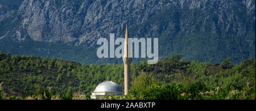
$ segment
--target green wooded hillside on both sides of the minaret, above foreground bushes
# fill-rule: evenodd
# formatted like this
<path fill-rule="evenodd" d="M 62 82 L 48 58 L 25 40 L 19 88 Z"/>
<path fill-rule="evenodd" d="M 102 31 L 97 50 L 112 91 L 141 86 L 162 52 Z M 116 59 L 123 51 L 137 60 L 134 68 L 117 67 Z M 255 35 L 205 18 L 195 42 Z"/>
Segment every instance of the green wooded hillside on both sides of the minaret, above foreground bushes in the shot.
<path fill-rule="evenodd" d="M 161 84 L 193 86 L 193 83 L 200 81 L 208 87 L 221 88 L 238 84 L 238 88 L 254 87 L 252 91 L 255 97 L 255 59 L 230 65 L 230 58 L 220 64 L 184 61 L 180 58 L 180 54 L 175 54 L 170 58 L 163 58 L 156 65 L 148 65 L 147 61 L 131 64 L 132 81 L 138 83 L 141 79 L 137 78 L 146 74 L 152 75 Z M 31 95 L 38 89 L 47 87 L 60 95 L 75 92 L 90 95 L 97 84 L 106 80 L 117 83 L 123 89 L 123 65 L 84 65 L 35 55 L 11 56 L 10 53 L 0 53 L 0 83 L 5 96 Z M 132 87 L 135 86 L 136 82 Z"/>

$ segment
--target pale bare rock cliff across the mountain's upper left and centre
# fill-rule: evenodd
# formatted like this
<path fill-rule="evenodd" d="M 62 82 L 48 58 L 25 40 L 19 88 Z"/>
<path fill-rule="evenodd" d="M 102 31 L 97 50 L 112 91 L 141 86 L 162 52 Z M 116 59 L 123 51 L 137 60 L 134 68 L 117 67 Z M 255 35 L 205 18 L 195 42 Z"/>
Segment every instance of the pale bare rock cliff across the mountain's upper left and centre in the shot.
<path fill-rule="evenodd" d="M 36 41 L 83 42 L 93 44 L 99 37 L 117 36 L 125 24 L 141 24 L 177 3 L 155 1 L 33 1 L 19 7 L 22 27 Z"/>

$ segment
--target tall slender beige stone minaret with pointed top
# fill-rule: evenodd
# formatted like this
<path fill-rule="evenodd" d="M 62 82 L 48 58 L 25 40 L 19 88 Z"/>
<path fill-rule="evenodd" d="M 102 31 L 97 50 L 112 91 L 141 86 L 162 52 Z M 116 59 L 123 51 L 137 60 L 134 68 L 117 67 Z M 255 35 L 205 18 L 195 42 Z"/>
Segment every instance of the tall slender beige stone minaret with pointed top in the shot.
<path fill-rule="evenodd" d="M 128 41 L 128 28 L 126 24 L 126 32 L 125 32 L 125 54 L 123 55 L 123 64 L 125 66 L 125 95 L 127 95 L 128 90 L 130 89 L 130 64 L 131 58 L 129 58 L 129 41 Z"/>

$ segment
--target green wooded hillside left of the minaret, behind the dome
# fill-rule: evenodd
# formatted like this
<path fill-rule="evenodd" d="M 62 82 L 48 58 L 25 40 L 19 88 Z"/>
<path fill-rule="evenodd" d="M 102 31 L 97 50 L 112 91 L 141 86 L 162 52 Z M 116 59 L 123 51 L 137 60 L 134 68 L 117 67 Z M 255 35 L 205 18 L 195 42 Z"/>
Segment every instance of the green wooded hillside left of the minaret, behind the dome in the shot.
<path fill-rule="evenodd" d="M 122 86 L 122 65 L 84 65 L 35 55 L 0 56 L 0 83 L 6 92 L 13 95 L 29 95 L 30 91 L 43 87 L 65 94 L 90 93 L 98 83 L 112 80 Z"/>

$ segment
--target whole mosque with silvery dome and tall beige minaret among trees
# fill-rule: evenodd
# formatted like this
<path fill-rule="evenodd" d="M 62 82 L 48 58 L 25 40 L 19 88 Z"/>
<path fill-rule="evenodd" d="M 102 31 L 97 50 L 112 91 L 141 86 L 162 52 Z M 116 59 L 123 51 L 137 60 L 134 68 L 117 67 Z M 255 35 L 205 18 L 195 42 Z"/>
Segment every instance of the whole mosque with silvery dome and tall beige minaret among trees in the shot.
<path fill-rule="evenodd" d="M 129 34 L 128 28 L 126 24 L 126 32 L 125 32 L 125 45 L 124 45 L 124 55 L 123 55 L 123 64 L 125 67 L 125 93 L 123 93 L 122 89 L 115 84 L 114 82 L 106 81 L 98 84 L 95 90 L 92 92 L 92 99 L 103 99 L 105 95 L 127 95 L 127 92 L 130 89 L 130 64 L 131 58 L 129 58 Z"/>

